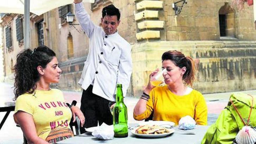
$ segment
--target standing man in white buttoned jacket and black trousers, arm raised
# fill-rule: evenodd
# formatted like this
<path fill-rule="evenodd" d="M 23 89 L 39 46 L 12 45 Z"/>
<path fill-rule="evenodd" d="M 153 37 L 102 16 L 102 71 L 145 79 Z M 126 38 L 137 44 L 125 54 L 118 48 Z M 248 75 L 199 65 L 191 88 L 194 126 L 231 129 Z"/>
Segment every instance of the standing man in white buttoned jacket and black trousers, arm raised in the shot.
<path fill-rule="evenodd" d="M 79 84 L 83 88 L 81 111 L 85 128 L 113 124 L 109 103 L 115 102 L 116 84 L 125 97 L 132 72 L 131 46 L 117 31 L 120 12 L 114 5 L 102 9 L 102 27 L 90 19 L 82 0 L 74 0 L 75 15 L 90 39 L 90 49 Z M 112 105 L 113 103 L 111 103 Z"/>

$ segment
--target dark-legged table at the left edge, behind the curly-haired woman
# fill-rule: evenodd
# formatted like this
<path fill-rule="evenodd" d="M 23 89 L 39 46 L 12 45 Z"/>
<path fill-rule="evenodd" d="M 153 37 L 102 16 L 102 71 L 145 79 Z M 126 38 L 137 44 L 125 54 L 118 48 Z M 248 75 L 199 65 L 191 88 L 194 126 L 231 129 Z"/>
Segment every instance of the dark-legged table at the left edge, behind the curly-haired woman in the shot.
<path fill-rule="evenodd" d="M 15 109 L 15 102 L 4 102 L 4 103 L 0 103 L 0 112 L 5 112 L 6 114 L 3 117 L 3 120 L 1 121 L 0 124 L 0 130 L 4 124 L 4 122 L 6 121 L 8 115 L 10 114 L 11 111 L 14 111 Z"/>

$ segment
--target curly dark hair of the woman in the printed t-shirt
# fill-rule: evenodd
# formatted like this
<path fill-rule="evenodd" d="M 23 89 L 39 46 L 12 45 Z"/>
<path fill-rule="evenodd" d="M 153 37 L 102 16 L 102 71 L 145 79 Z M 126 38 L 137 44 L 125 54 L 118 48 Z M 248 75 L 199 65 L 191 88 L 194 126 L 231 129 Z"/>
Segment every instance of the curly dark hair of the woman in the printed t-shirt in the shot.
<path fill-rule="evenodd" d="M 55 56 L 54 51 L 44 45 L 35 48 L 34 51 L 24 49 L 17 55 L 17 62 L 13 67 L 15 76 L 14 100 L 24 93 L 34 93 L 36 82 L 40 78 L 37 67 L 45 68 Z"/>

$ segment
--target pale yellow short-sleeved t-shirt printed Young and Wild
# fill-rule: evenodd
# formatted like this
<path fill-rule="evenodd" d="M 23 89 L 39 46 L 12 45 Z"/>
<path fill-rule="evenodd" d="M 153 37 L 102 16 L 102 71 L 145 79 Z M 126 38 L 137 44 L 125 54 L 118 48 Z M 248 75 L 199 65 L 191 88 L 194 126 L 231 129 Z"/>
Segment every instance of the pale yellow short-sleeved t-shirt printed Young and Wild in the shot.
<path fill-rule="evenodd" d="M 15 113 L 17 111 L 33 116 L 37 135 L 44 140 L 51 129 L 70 128 L 72 113 L 64 101 L 63 93 L 58 89 L 35 90 L 34 94 L 20 95 L 15 105 Z"/>

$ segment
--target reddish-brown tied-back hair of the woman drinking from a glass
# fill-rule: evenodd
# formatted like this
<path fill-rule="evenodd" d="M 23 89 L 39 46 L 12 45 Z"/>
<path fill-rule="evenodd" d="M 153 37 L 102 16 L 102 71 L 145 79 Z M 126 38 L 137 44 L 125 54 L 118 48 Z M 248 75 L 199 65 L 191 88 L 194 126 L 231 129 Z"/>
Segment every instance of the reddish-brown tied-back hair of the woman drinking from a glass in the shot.
<path fill-rule="evenodd" d="M 180 51 L 173 50 L 163 53 L 162 62 L 164 60 L 173 61 L 173 63 L 179 68 L 186 67 L 186 72 L 184 73 L 182 79 L 186 85 L 190 85 L 192 87 L 195 80 L 195 63 L 191 57 L 185 56 Z"/>

